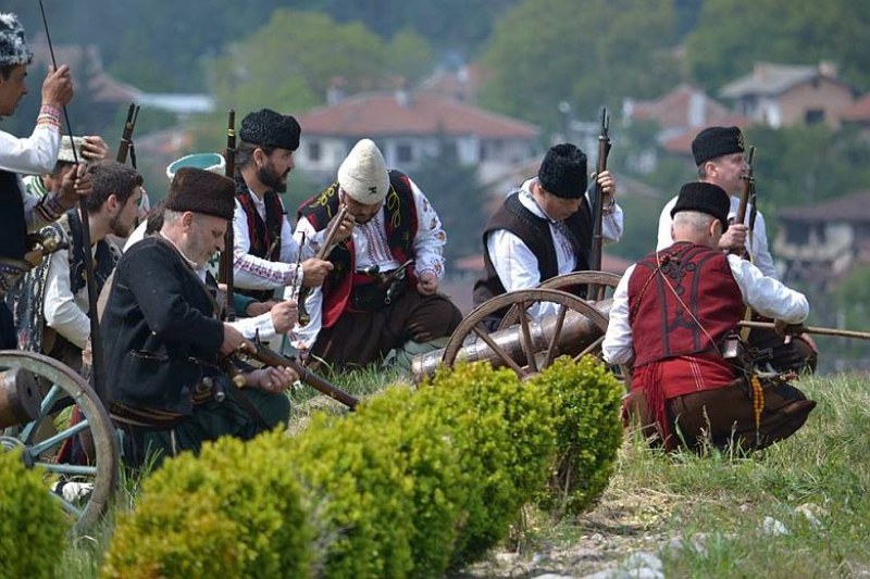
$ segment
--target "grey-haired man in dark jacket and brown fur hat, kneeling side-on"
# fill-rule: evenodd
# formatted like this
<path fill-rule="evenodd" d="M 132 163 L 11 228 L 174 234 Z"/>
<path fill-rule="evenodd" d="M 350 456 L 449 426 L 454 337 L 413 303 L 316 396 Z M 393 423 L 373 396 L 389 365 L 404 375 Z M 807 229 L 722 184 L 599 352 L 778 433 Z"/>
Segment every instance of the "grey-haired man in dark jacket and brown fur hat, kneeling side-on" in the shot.
<path fill-rule="evenodd" d="M 220 366 L 246 343 L 221 323 L 207 269 L 223 250 L 234 189 L 222 175 L 178 169 L 160 232 L 133 244 L 115 269 L 102 318 L 105 375 L 132 465 L 198 452 L 222 436 L 249 439 L 289 417 L 284 392 L 299 378 L 294 370 L 249 372 L 239 390 Z"/>

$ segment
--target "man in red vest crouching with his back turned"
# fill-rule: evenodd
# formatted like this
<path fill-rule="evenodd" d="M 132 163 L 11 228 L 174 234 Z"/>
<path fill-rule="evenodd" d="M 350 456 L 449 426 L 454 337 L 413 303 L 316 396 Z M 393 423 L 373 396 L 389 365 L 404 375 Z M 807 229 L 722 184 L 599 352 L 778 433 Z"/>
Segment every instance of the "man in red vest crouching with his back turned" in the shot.
<path fill-rule="evenodd" d="M 774 318 L 784 333 L 807 317 L 809 304 L 717 249 L 729 206 L 717 185 L 684 185 L 671 211 L 673 244 L 629 267 L 613 294 L 605 360 L 633 363 L 626 414 L 668 450 L 761 449 L 793 435 L 816 406 L 793 386 L 735 364 L 731 350 L 745 305 Z"/>

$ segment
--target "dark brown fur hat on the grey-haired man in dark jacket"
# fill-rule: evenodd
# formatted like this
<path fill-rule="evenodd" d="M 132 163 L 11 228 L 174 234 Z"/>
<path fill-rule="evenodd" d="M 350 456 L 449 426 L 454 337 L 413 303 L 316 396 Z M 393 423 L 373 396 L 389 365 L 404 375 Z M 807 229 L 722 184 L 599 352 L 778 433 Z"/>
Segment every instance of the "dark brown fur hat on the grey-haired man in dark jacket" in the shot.
<path fill-rule="evenodd" d="M 170 211 L 192 211 L 232 221 L 236 209 L 235 192 L 236 185 L 229 177 L 201 168 L 182 167 L 172 178 L 164 206 Z"/>

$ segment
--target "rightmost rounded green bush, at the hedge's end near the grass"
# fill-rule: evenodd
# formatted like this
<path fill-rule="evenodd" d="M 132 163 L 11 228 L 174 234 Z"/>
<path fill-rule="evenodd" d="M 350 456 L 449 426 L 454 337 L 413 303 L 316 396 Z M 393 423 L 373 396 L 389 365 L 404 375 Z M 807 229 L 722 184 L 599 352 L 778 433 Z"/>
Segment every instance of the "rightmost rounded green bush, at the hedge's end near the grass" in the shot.
<path fill-rule="evenodd" d="M 563 356 L 530 381 L 547 391 L 556 417 L 556 460 L 538 504 L 556 516 L 579 514 L 601 495 L 613 474 L 624 388 L 593 356 L 579 363 Z"/>

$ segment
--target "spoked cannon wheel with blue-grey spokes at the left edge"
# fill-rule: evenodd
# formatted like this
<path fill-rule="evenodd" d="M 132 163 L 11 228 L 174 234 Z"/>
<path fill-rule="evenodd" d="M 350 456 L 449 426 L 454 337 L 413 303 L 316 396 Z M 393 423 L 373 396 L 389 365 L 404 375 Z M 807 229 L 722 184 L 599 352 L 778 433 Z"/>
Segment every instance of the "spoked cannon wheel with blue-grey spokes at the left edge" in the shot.
<path fill-rule="evenodd" d="M 53 358 L 0 351 L 0 368 L 29 370 L 52 385 L 34 408 L 36 418 L 0 437 L 0 451 L 20 448 L 28 466 L 45 469 L 47 491 L 75 519 L 78 534 L 105 512 L 117 482 L 117 439 L 109 414 L 94 389 Z M 72 445 L 80 452 L 69 452 Z"/>

